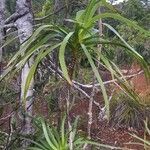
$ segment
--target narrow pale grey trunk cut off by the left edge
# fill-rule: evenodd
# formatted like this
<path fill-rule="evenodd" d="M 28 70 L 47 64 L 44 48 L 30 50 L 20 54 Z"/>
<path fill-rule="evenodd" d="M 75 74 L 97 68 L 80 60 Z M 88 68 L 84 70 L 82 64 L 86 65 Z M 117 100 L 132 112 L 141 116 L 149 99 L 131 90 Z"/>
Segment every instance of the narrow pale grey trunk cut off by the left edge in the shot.
<path fill-rule="evenodd" d="M 3 55 L 3 38 L 4 38 L 4 20 L 5 19 L 5 0 L 0 0 L 0 75 L 2 73 L 2 55 Z"/>

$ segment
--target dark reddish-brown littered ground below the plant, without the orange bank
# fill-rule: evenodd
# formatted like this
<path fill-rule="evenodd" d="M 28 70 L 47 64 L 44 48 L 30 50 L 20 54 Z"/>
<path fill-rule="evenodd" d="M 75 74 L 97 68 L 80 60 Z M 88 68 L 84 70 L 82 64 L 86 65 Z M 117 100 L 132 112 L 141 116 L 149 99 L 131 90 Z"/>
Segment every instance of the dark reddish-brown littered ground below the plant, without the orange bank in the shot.
<path fill-rule="evenodd" d="M 41 100 L 40 100 L 41 101 Z M 76 118 L 80 116 L 78 127 L 79 132 L 83 135 L 87 135 L 87 123 L 88 123 L 88 101 L 83 99 L 80 102 L 76 103 L 70 112 L 70 116 L 72 118 Z M 43 109 L 44 108 L 44 109 Z M 38 106 L 36 113 L 44 114 L 48 118 L 47 113 L 47 104 L 43 103 L 43 105 Z M 54 113 L 55 114 L 55 113 Z M 57 118 L 58 114 L 54 115 L 53 119 Z M 56 120 L 55 120 L 56 121 Z M 136 130 L 132 128 L 116 128 L 112 127 L 107 123 L 106 120 L 99 119 L 99 110 L 97 106 L 93 105 L 93 121 L 91 128 L 91 137 L 94 141 L 101 142 L 103 144 L 115 146 L 115 147 L 123 147 L 124 150 L 128 148 L 128 150 L 144 150 L 143 146 L 129 144 L 131 142 L 139 142 L 135 138 L 133 138 L 130 134 L 136 134 L 137 136 L 144 138 L 143 130 Z M 130 133 L 130 134 L 129 134 Z M 148 137 L 149 138 L 149 137 Z M 107 149 L 105 149 L 107 150 Z M 148 150 L 148 149 L 147 149 Z"/>

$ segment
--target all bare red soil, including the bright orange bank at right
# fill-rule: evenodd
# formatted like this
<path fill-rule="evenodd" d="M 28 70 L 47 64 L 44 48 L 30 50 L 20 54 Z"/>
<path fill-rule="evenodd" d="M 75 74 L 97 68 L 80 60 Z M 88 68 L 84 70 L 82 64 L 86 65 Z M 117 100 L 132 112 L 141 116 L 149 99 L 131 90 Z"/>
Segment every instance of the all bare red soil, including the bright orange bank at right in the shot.
<path fill-rule="evenodd" d="M 140 70 L 140 67 L 134 64 L 128 73 L 129 74 L 136 73 L 139 70 Z M 144 74 L 140 74 L 132 78 L 130 82 L 132 83 L 132 85 L 134 86 L 134 89 L 139 93 L 140 96 L 145 96 L 147 93 L 150 93 L 150 84 L 147 84 Z M 99 102 L 101 105 L 103 105 L 101 94 L 95 95 L 94 99 L 97 102 Z M 87 99 L 79 100 L 78 102 L 75 103 L 70 113 L 72 118 L 75 118 L 77 115 L 81 116 L 81 119 L 79 122 L 79 128 L 84 133 L 87 132 L 88 104 L 89 103 Z M 43 100 L 43 97 L 42 96 L 39 97 L 34 107 L 35 114 L 43 115 L 46 118 L 49 118 L 47 106 L 48 104 Z M 1 118 L 7 116 L 10 113 L 10 111 L 11 111 L 11 108 L 6 107 Z M 56 119 L 57 117 L 58 117 L 58 114 L 55 114 L 53 119 Z M 0 129 L 4 129 L 4 130 L 8 129 L 9 128 L 8 121 L 9 119 L 1 120 Z M 4 124 L 2 125 L 2 123 Z M 139 130 L 130 131 L 129 129 L 125 129 L 125 128 L 114 129 L 110 127 L 109 124 L 105 120 L 99 120 L 99 109 L 96 105 L 93 105 L 93 123 L 92 123 L 92 130 L 91 130 L 92 139 L 96 141 L 101 141 L 104 144 L 109 144 L 113 146 L 126 147 L 132 150 L 144 150 L 142 146 L 139 146 L 139 145 L 129 146 L 126 144 L 129 142 L 136 141 L 131 135 L 129 135 L 129 132 L 136 133 L 136 135 L 143 138 L 143 131 L 139 131 Z"/>

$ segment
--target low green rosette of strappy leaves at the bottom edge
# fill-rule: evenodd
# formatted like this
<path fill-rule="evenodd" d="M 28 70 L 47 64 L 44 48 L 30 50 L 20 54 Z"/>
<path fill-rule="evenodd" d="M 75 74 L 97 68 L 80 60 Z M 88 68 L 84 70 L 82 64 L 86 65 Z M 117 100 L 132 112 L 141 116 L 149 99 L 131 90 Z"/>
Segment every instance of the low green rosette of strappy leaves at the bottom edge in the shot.
<path fill-rule="evenodd" d="M 36 119 L 37 120 L 37 119 Z M 84 144 L 93 145 L 94 149 L 99 148 L 115 148 L 121 149 L 120 147 L 113 147 L 105 144 L 100 144 L 98 142 L 94 142 L 92 140 L 86 140 L 85 138 L 79 136 L 77 134 L 77 121 L 78 117 L 76 118 L 75 122 L 72 124 L 71 132 L 66 128 L 66 117 L 63 117 L 62 123 L 59 129 L 56 127 L 49 125 L 43 121 L 43 119 L 38 119 L 36 122 L 40 129 L 42 129 L 42 134 L 36 138 L 36 140 L 27 139 L 32 144 L 28 147 L 28 150 L 69 150 L 69 134 L 72 132 L 72 141 L 73 141 L 73 149 L 79 150 L 82 149 Z"/>

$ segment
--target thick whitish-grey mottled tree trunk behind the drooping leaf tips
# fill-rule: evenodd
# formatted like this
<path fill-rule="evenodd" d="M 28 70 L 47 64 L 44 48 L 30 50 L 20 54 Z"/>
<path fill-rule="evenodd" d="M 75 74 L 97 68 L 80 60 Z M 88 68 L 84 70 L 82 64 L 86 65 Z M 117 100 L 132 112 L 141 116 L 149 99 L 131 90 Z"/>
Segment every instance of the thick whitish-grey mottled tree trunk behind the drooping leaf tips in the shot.
<path fill-rule="evenodd" d="M 31 0 L 17 0 L 16 2 L 16 12 L 20 14 L 22 17 L 18 18 L 15 21 L 16 27 L 18 29 L 18 36 L 20 43 L 22 44 L 26 41 L 33 32 L 33 14 L 31 9 Z M 26 79 L 30 70 L 30 66 L 33 63 L 33 57 L 24 65 L 21 73 L 21 104 L 23 104 L 24 99 L 24 87 L 26 83 Z M 30 83 L 29 90 L 26 95 L 26 103 L 25 106 L 25 117 L 23 124 L 23 134 L 31 134 L 32 133 L 32 119 L 29 116 L 32 116 L 32 102 L 33 102 L 33 86 L 34 81 Z M 26 146 L 26 144 L 24 144 Z"/>

